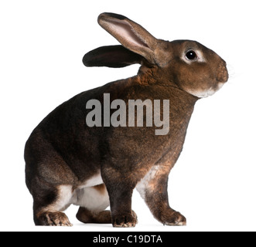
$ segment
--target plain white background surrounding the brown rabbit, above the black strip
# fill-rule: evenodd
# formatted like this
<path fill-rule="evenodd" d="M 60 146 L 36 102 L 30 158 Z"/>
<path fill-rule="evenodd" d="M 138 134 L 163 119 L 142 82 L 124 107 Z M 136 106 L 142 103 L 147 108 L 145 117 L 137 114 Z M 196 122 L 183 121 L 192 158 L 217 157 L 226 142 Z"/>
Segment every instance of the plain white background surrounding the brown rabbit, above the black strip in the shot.
<path fill-rule="evenodd" d="M 254 1 L 0 2 L 0 229 L 2 231 L 254 231 L 255 12 Z M 172 208 L 186 227 L 156 222 L 137 191 L 136 228 L 83 225 L 77 207 L 67 210 L 73 228 L 35 227 L 25 184 L 23 150 L 29 134 L 63 101 L 96 86 L 133 76 L 125 69 L 86 68 L 84 53 L 118 44 L 97 24 L 116 12 L 160 39 L 194 39 L 227 61 L 230 80 L 196 103 L 183 153 L 169 176 Z"/>

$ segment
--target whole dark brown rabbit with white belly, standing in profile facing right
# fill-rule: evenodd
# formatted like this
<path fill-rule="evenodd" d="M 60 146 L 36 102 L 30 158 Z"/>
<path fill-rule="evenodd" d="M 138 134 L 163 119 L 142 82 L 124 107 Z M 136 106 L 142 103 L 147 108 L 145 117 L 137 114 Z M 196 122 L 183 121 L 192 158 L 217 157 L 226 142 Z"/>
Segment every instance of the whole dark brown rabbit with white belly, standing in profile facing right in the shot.
<path fill-rule="evenodd" d="M 73 204 L 80 206 L 80 222 L 135 227 L 135 188 L 163 225 L 186 225 L 186 218 L 169 206 L 169 172 L 183 150 L 196 101 L 227 82 L 226 63 L 199 42 L 156 39 L 123 15 L 102 13 L 98 23 L 121 45 L 88 52 L 84 65 L 141 66 L 136 76 L 73 96 L 32 131 L 24 157 L 35 225 L 71 226 L 63 211 Z M 102 104 L 107 96 L 126 106 L 129 100 L 169 100 L 168 133 L 155 134 L 153 124 L 129 127 L 128 118 L 124 126 L 104 126 L 103 111 L 99 124 L 89 127 L 87 116 L 94 108 L 87 104 Z M 164 117 L 162 110 L 155 114 Z"/>

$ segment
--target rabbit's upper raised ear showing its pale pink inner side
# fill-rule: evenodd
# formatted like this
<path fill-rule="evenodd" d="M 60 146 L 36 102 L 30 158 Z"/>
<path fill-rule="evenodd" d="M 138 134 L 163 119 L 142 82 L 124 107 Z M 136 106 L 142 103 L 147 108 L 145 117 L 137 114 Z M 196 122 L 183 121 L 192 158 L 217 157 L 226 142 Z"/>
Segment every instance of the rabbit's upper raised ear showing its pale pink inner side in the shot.
<path fill-rule="evenodd" d="M 99 15 L 98 23 L 111 36 L 118 39 L 125 48 L 143 56 L 151 64 L 157 63 L 158 59 L 155 56 L 155 49 L 159 40 L 155 39 L 141 25 L 138 25 L 123 15 L 113 13 Z"/>

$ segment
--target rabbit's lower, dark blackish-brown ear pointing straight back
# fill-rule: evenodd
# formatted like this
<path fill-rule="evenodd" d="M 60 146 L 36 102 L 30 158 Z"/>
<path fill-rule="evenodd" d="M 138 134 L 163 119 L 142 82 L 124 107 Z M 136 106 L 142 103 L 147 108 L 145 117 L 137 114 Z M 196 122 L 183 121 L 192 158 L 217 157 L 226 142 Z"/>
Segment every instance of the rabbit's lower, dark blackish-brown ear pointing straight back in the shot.
<path fill-rule="evenodd" d="M 103 46 L 84 55 L 83 63 L 87 67 L 107 66 L 121 68 L 135 63 L 142 63 L 143 57 L 131 52 L 124 46 Z"/>

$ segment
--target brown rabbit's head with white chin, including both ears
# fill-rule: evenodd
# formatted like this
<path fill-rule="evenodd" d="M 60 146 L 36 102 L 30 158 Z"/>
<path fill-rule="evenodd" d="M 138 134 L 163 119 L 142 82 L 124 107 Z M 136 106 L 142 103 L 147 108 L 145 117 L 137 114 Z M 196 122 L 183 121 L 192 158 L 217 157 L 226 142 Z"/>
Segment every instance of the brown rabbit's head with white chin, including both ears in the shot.
<path fill-rule="evenodd" d="M 141 25 L 123 15 L 103 13 L 98 22 L 122 46 L 88 52 L 85 66 L 124 67 L 134 63 L 152 70 L 152 77 L 199 98 L 217 92 L 227 82 L 226 63 L 215 52 L 191 40 L 155 39 Z"/>

